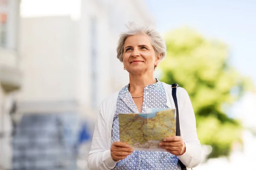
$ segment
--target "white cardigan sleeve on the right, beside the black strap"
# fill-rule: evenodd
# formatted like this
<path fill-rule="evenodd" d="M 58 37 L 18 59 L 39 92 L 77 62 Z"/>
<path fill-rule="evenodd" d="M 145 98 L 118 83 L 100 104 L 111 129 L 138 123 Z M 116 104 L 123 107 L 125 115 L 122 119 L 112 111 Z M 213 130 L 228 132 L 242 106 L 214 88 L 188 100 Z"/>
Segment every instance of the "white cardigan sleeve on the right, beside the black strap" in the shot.
<path fill-rule="evenodd" d="M 188 168 L 196 167 L 201 162 L 201 144 L 196 132 L 195 113 L 189 94 L 184 88 L 177 88 L 177 102 L 180 116 L 180 133 L 186 145 L 186 151 L 178 156 Z"/>

